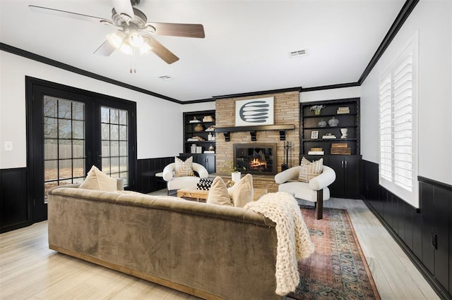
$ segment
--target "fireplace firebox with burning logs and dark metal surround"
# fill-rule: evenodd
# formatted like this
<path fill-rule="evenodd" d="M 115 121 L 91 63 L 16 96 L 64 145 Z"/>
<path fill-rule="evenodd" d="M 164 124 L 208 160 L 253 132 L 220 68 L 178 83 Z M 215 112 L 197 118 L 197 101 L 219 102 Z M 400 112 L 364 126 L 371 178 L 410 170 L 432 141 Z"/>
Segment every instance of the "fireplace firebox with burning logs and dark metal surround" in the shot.
<path fill-rule="evenodd" d="M 246 168 L 244 173 L 275 175 L 276 157 L 276 143 L 234 144 L 234 165 Z"/>

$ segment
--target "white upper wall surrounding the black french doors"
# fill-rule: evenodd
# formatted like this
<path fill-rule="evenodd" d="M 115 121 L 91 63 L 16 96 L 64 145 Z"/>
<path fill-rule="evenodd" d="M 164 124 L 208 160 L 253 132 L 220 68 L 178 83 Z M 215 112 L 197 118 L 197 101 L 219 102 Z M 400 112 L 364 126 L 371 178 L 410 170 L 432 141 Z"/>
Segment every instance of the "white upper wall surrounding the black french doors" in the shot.
<path fill-rule="evenodd" d="M 181 105 L 0 51 L 0 168 L 26 166 L 25 75 L 136 102 L 138 158 L 182 151 Z M 4 142 L 13 143 L 5 151 Z"/>

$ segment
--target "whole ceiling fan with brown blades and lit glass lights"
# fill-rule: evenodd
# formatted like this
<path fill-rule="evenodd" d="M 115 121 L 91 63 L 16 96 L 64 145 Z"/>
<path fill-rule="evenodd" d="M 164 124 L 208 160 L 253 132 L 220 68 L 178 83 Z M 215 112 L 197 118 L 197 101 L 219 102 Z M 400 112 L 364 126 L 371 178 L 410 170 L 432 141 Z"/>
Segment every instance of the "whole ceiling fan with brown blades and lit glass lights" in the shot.
<path fill-rule="evenodd" d="M 107 40 L 94 52 L 94 54 L 102 56 L 109 56 L 116 49 L 132 56 L 152 51 L 163 61 L 170 64 L 178 61 L 179 58 L 160 44 L 153 35 L 197 37 L 201 39 L 205 37 L 202 24 L 149 23 L 146 15 L 133 7 L 140 4 L 140 0 L 112 0 L 112 4 L 112 20 L 42 6 L 29 5 L 29 7 L 37 13 L 59 15 L 116 27 L 117 31 L 107 35 Z"/>

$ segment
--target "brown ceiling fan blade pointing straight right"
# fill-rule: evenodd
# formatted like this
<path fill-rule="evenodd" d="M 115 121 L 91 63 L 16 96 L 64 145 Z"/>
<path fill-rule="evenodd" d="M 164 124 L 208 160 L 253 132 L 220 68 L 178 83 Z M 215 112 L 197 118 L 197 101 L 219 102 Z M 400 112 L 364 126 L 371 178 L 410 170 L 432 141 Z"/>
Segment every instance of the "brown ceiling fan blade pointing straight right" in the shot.
<path fill-rule="evenodd" d="M 170 35 L 172 37 L 198 37 L 203 39 L 204 27 L 202 24 L 182 24 L 182 23 L 146 23 L 150 26 L 150 32 L 155 28 L 155 35 Z"/>

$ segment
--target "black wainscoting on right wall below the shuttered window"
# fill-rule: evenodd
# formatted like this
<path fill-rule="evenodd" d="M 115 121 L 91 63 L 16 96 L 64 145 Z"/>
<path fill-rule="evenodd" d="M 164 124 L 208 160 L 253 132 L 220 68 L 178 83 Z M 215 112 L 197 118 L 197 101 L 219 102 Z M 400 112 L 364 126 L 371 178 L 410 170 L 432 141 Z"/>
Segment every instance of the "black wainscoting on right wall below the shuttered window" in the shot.
<path fill-rule="evenodd" d="M 418 177 L 420 208 L 379 185 L 379 166 L 362 160 L 367 206 L 442 299 L 452 299 L 452 186 Z M 436 246 L 434 246 L 436 241 Z"/>

